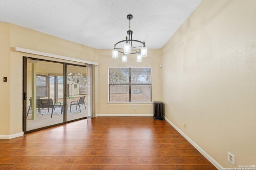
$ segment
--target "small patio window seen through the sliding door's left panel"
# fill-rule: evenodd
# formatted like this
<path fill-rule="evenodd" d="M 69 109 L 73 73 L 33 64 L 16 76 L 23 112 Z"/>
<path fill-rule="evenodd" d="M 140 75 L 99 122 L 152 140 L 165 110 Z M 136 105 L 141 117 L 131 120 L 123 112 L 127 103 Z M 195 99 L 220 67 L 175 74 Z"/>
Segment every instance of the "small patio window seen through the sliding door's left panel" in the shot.
<path fill-rule="evenodd" d="M 48 76 L 36 75 L 36 96 L 47 97 L 48 96 Z"/>

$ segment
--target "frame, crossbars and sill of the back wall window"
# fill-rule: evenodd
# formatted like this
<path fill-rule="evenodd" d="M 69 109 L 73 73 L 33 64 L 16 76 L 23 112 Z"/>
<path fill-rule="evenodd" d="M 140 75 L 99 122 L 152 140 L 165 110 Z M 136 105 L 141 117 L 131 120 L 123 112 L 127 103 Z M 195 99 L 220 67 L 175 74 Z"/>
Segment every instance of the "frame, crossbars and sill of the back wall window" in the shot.
<path fill-rule="evenodd" d="M 109 72 L 110 72 L 110 68 L 150 68 L 150 78 L 151 81 L 150 83 L 138 83 L 138 84 L 132 84 L 130 81 L 129 83 L 124 83 L 123 85 L 128 85 L 129 86 L 129 101 L 130 102 L 110 102 L 110 78 L 109 78 Z M 130 69 L 129 69 L 130 70 Z M 130 74 L 130 73 L 129 73 Z M 130 76 L 130 75 L 129 75 Z M 112 85 L 112 84 L 111 84 Z M 122 84 L 119 84 L 122 85 Z M 132 85 L 150 85 L 150 102 L 134 102 L 131 101 L 131 94 L 132 94 L 132 90 L 131 90 L 131 86 Z M 133 67 L 133 66 L 113 66 L 113 67 L 108 67 L 108 103 L 107 104 L 152 104 L 152 66 L 137 66 L 137 67 Z"/>

